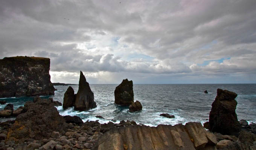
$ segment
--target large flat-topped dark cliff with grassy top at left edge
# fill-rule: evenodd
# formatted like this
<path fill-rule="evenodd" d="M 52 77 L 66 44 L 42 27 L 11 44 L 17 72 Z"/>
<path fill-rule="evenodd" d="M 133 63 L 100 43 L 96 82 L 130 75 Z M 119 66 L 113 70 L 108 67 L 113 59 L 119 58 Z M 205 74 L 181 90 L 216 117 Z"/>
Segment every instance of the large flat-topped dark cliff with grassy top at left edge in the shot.
<path fill-rule="evenodd" d="M 49 70 L 49 58 L 18 56 L 0 59 L 0 98 L 54 95 Z"/>

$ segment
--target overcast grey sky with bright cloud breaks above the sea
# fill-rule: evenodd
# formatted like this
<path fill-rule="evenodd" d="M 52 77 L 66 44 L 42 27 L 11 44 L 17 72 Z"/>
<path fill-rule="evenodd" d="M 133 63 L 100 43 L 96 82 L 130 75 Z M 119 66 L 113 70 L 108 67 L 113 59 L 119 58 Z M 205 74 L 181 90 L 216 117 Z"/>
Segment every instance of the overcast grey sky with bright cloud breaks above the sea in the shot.
<path fill-rule="evenodd" d="M 53 83 L 256 83 L 255 0 L 0 0 L 0 59 Z"/>

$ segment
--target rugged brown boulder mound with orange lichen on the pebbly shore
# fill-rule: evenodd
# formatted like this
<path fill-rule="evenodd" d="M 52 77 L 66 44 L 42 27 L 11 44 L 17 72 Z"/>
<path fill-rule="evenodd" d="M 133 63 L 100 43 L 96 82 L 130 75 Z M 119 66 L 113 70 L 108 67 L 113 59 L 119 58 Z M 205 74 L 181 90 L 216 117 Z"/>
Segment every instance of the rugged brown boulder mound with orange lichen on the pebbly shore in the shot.
<path fill-rule="evenodd" d="M 9 128 L 8 139 L 49 138 L 53 131 L 67 130 L 68 124 L 64 117 L 59 115 L 49 99 L 37 99 L 37 102 L 28 101 L 24 108 L 26 113 L 17 116 L 15 123 Z"/>

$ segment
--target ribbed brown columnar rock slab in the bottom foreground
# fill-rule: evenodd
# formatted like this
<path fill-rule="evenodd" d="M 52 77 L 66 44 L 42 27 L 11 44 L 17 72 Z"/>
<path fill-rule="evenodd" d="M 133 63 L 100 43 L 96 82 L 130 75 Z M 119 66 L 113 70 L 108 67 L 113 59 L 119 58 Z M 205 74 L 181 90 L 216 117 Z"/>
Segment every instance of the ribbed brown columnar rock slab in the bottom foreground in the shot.
<path fill-rule="evenodd" d="M 92 150 L 195 150 L 216 148 L 216 136 L 201 123 L 160 124 L 157 127 L 133 125 L 112 128 L 94 144 Z"/>

